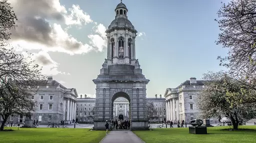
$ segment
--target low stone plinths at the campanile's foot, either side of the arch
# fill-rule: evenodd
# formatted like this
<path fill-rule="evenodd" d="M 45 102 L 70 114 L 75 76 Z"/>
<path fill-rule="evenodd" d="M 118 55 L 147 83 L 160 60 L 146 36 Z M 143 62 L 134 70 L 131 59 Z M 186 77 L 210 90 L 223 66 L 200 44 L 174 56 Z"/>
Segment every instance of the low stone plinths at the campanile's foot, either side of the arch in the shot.
<path fill-rule="evenodd" d="M 94 121 L 93 130 L 106 130 L 105 124 L 106 122 L 103 121 Z M 148 130 L 148 121 L 132 121 L 130 125 L 130 130 Z"/>

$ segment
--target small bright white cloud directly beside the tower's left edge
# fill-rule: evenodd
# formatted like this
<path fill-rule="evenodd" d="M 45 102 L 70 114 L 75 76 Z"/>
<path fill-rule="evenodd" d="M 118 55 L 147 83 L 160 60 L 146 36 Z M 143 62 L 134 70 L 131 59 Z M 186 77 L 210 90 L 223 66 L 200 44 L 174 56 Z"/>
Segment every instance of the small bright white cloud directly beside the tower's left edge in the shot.
<path fill-rule="evenodd" d="M 93 31 L 96 32 L 97 34 L 90 34 L 88 35 L 88 38 L 90 39 L 90 44 L 95 47 L 98 51 L 102 51 L 104 47 L 106 47 L 106 35 L 105 35 L 105 31 L 106 31 L 106 27 L 99 23 L 97 24 L 96 22 L 94 22 L 94 24 L 96 24 L 95 26 L 93 26 Z"/>

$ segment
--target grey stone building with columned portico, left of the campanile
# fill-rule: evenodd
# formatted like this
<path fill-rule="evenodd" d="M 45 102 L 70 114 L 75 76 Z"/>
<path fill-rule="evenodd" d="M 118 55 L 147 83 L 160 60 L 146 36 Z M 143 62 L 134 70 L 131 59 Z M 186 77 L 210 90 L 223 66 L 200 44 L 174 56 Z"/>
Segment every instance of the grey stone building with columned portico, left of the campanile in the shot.
<path fill-rule="evenodd" d="M 47 80 L 38 86 L 36 92 L 31 91 L 31 100 L 34 100 L 34 112 L 31 112 L 32 119 L 38 124 L 52 124 L 65 121 L 66 123 L 75 119 L 75 101 L 77 93 L 74 88 L 68 89 L 48 77 Z M 7 120 L 13 123 L 24 123 L 22 115 L 12 115 Z"/>

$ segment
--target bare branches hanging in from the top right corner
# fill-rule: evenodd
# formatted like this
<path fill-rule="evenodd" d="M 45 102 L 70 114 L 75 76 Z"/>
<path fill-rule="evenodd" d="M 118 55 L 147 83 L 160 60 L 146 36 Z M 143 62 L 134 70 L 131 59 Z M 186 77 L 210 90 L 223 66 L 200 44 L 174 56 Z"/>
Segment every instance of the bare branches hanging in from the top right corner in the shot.
<path fill-rule="evenodd" d="M 248 82 L 256 89 L 256 0 L 231 0 L 217 12 L 220 33 L 216 44 L 228 48 L 228 56 L 220 57 L 220 65 L 230 69 L 232 76 Z"/>

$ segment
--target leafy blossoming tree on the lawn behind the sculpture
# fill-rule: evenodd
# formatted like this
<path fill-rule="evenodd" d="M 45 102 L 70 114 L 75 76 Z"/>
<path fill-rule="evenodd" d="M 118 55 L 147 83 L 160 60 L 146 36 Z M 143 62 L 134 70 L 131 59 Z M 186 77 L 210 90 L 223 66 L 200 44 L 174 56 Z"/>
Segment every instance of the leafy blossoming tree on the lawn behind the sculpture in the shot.
<path fill-rule="evenodd" d="M 208 72 L 203 75 L 204 88 L 199 92 L 195 102 L 202 118 L 226 116 L 230 118 L 233 129 L 238 129 L 240 120 L 250 120 L 256 117 L 256 106 L 251 103 L 231 104 L 233 100 L 243 98 L 242 84 L 237 83 L 224 72 Z M 238 99 L 227 96 L 237 95 Z"/>

